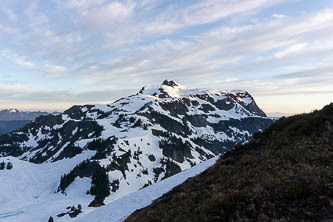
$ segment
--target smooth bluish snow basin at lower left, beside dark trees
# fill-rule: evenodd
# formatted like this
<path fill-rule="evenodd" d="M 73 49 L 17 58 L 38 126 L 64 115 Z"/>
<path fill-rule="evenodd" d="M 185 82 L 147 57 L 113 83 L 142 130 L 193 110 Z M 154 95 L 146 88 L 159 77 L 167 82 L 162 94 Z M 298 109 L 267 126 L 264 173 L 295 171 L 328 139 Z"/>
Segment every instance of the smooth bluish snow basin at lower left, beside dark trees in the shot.
<path fill-rule="evenodd" d="M 0 170 L 0 222 L 45 222 L 49 216 L 66 211 L 67 206 L 89 204 L 93 197 L 85 192 L 90 180 L 76 180 L 80 183 L 71 184 L 66 196 L 55 190 L 62 174 L 93 154 L 86 152 L 73 159 L 47 164 L 33 164 L 15 157 L 0 158 L 0 162 L 13 164 L 11 170 Z"/>

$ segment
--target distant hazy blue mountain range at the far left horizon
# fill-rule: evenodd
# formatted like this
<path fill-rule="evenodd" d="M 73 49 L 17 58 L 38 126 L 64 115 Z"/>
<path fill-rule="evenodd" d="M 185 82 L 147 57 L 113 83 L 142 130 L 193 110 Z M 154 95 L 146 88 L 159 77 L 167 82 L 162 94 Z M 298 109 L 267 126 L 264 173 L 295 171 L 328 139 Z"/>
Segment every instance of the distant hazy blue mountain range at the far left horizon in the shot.
<path fill-rule="evenodd" d="M 18 109 L 0 110 L 0 135 L 21 128 L 38 116 L 48 114 L 47 112 L 29 112 Z"/>

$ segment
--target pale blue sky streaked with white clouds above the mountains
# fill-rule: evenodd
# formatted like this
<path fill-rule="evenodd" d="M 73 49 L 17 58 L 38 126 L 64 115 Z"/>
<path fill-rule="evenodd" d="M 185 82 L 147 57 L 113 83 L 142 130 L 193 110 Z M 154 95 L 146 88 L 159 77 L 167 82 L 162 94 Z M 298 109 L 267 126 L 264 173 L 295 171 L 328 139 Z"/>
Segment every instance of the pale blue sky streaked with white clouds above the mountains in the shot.
<path fill-rule="evenodd" d="M 0 108 L 109 103 L 168 78 L 308 112 L 333 101 L 332 37 L 331 0 L 2 0 Z"/>

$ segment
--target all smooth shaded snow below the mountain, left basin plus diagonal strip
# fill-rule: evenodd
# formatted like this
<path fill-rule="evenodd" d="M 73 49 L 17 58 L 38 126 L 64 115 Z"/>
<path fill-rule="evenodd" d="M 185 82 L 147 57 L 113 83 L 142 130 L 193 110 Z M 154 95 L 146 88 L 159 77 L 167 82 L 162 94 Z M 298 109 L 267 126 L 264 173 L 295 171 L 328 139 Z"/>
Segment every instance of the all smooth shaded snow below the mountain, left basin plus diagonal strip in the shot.
<path fill-rule="evenodd" d="M 76 179 L 70 185 L 67 196 L 54 192 L 60 175 L 70 165 L 75 165 L 80 160 L 67 159 L 52 164 L 42 164 L 42 167 L 39 167 L 14 157 L 0 158 L 0 162 L 10 161 L 14 165 L 12 170 L 0 171 L 2 181 L 6 181 L 6 183 L 0 184 L 0 222 L 46 222 L 50 216 L 53 216 L 56 222 L 123 221 L 135 210 L 148 206 L 153 200 L 183 183 L 189 177 L 200 174 L 212 166 L 217 159 L 218 157 L 214 157 L 159 183 L 114 200 L 103 207 L 83 207 L 83 212 L 77 218 L 70 218 L 68 215 L 59 218 L 56 216 L 59 212 L 67 211 L 64 206 L 77 206 L 78 204 L 86 206 L 93 199 L 92 196 L 84 195 L 84 192 L 90 187 L 90 181 L 86 178 L 79 178 L 80 181 Z"/>

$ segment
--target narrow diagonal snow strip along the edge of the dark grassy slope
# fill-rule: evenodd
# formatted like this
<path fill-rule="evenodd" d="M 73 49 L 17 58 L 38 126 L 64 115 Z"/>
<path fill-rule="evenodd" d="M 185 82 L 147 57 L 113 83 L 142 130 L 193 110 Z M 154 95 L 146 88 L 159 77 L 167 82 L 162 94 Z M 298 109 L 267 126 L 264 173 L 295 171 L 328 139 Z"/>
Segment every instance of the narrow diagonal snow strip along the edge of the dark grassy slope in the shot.
<path fill-rule="evenodd" d="M 212 166 L 218 157 L 207 160 L 191 169 L 175 176 L 169 177 L 159 183 L 153 184 L 142 190 L 138 190 L 121 199 L 115 200 L 100 207 L 87 215 L 80 217 L 77 222 L 121 222 L 131 215 L 135 210 L 146 207 L 153 200 L 167 193 L 175 186 L 183 183 L 190 177 L 196 176 Z"/>

